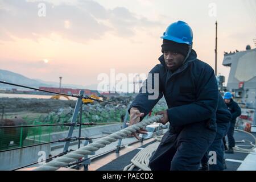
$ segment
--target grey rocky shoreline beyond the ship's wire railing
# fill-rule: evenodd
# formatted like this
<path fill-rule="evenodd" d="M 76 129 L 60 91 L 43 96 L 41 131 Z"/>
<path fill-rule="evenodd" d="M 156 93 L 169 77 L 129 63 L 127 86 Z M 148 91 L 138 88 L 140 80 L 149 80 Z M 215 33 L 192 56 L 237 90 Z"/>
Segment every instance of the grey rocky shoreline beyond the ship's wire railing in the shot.
<path fill-rule="evenodd" d="M 105 101 L 121 105 L 129 105 L 134 97 L 111 97 Z M 0 112 L 4 107 L 7 118 L 13 118 L 17 113 L 26 121 L 39 122 L 70 122 L 75 108 L 75 100 L 52 100 L 38 98 L 0 98 Z M 84 122 L 119 122 L 124 117 L 127 107 L 94 101 L 92 104 L 82 105 L 82 118 Z M 156 111 L 167 109 L 164 99 L 160 100 L 153 109 Z M 34 116 L 33 116 L 34 114 Z"/>

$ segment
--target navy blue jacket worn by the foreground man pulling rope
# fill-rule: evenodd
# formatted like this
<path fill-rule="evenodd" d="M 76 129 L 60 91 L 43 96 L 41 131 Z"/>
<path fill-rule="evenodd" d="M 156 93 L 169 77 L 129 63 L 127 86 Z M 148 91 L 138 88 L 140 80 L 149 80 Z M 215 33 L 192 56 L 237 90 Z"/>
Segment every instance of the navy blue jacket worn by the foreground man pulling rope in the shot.
<path fill-rule="evenodd" d="M 208 122 L 209 127 L 216 130 L 218 86 L 213 69 L 197 59 L 193 49 L 187 61 L 174 73 L 167 69 L 163 55 L 159 57 L 159 61 L 160 64 L 150 71 L 159 73 L 159 97 L 149 100 L 148 96 L 152 94 L 141 93 L 141 89 L 130 108 L 137 107 L 146 115 L 164 96 L 169 108 L 167 112 L 171 126 Z M 153 76 L 152 85 L 154 87 Z M 143 86 L 147 88 L 148 85 L 144 82 Z"/>

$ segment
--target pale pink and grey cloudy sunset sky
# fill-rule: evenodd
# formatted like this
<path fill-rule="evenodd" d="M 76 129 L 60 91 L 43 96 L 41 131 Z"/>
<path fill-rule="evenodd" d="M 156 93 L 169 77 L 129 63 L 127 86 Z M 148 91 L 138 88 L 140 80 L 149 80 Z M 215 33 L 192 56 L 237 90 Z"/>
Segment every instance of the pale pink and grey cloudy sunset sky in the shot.
<path fill-rule="evenodd" d="M 213 68 L 217 20 L 217 72 L 226 77 L 224 51 L 255 48 L 254 0 L 0 0 L 0 69 L 84 86 L 112 68 L 147 73 L 159 63 L 160 36 L 177 20 L 192 27 L 193 49 Z"/>

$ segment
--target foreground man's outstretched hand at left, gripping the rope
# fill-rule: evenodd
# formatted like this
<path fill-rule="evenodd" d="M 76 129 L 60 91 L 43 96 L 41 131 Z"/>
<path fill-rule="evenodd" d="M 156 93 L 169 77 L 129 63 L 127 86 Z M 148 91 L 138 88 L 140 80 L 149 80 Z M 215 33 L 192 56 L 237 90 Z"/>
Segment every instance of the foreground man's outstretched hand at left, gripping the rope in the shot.
<path fill-rule="evenodd" d="M 139 121 L 141 120 L 141 117 L 143 117 L 143 116 L 144 116 L 144 113 L 141 113 L 139 111 L 139 109 L 137 109 L 136 107 L 131 107 L 129 126 L 139 123 Z M 141 129 L 141 130 L 138 130 L 137 133 L 147 134 L 147 130 Z M 137 133 L 136 132 L 132 133 L 131 136 L 134 136 L 135 138 L 137 138 L 139 140 L 140 138 Z"/>

